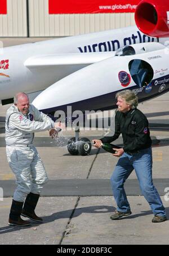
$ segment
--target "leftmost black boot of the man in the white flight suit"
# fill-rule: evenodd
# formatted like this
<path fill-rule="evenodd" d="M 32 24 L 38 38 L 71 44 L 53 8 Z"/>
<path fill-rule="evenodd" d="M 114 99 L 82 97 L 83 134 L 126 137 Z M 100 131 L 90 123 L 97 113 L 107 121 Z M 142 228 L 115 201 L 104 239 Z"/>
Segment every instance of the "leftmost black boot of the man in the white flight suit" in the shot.
<path fill-rule="evenodd" d="M 30 222 L 27 222 L 20 218 L 21 210 L 23 209 L 23 202 L 12 200 L 10 217 L 8 220 L 8 224 L 10 226 L 28 226 Z"/>

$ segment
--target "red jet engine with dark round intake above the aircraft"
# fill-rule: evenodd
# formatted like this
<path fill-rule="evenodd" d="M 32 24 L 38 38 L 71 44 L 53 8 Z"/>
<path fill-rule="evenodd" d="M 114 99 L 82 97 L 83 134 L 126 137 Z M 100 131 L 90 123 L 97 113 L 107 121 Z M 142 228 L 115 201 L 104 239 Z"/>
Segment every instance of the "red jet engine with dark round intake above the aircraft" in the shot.
<path fill-rule="evenodd" d="M 135 11 L 135 22 L 150 37 L 169 37 L 169 1 L 141 1 Z"/>

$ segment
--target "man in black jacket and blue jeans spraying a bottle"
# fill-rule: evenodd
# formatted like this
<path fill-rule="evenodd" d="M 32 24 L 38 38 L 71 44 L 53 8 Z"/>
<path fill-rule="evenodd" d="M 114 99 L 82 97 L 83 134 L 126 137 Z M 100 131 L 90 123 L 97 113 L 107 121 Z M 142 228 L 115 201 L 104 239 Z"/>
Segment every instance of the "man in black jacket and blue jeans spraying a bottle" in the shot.
<path fill-rule="evenodd" d="M 135 169 L 140 189 L 148 201 L 154 217 L 152 222 L 166 220 L 166 212 L 152 180 L 152 140 L 149 123 L 145 115 L 137 109 L 138 99 L 131 90 L 123 90 L 116 95 L 118 111 L 115 114 L 115 133 L 100 140 L 93 140 L 95 147 L 110 143 L 122 134 L 124 147 L 115 149 L 113 156 L 120 157 L 111 177 L 113 195 L 117 211 L 110 218 L 115 220 L 131 214 L 130 204 L 124 191 L 124 182 Z"/>

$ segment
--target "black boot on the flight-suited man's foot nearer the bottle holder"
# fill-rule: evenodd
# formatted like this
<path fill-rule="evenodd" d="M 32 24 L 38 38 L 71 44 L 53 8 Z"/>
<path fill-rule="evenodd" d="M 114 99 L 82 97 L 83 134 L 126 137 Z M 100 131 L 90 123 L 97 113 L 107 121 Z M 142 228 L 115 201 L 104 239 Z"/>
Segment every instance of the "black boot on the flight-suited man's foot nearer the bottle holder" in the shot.
<path fill-rule="evenodd" d="M 24 217 L 28 217 L 29 219 L 35 220 L 36 222 L 43 222 L 43 219 L 39 218 L 34 212 L 34 209 L 37 206 L 37 202 L 39 200 L 39 196 L 40 195 L 34 194 L 32 192 L 28 194 L 25 199 L 25 204 L 21 215 Z"/>

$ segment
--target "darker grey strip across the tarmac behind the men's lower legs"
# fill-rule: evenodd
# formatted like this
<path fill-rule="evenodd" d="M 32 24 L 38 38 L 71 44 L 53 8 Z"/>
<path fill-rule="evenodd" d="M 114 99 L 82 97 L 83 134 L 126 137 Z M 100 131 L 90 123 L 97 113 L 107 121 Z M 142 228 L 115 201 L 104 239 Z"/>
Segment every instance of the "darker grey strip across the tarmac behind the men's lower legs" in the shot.
<path fill-rule="evenodd" d="M 165 194 L 169 179 L 153 179 L 154 186 L 159 195 Z M 14 194 L 15 180 L 0 180 L 0 188 L 3 189 L 3 197 L 11 197 Z M 140 196 L 140 187 L 137 179 L 128 179 L 124 184 L 128 196 Z M 112 188 L 109 179 L 57 179 L 49 180 L 42 189 L 41 196 L 112 196 Z"/>

